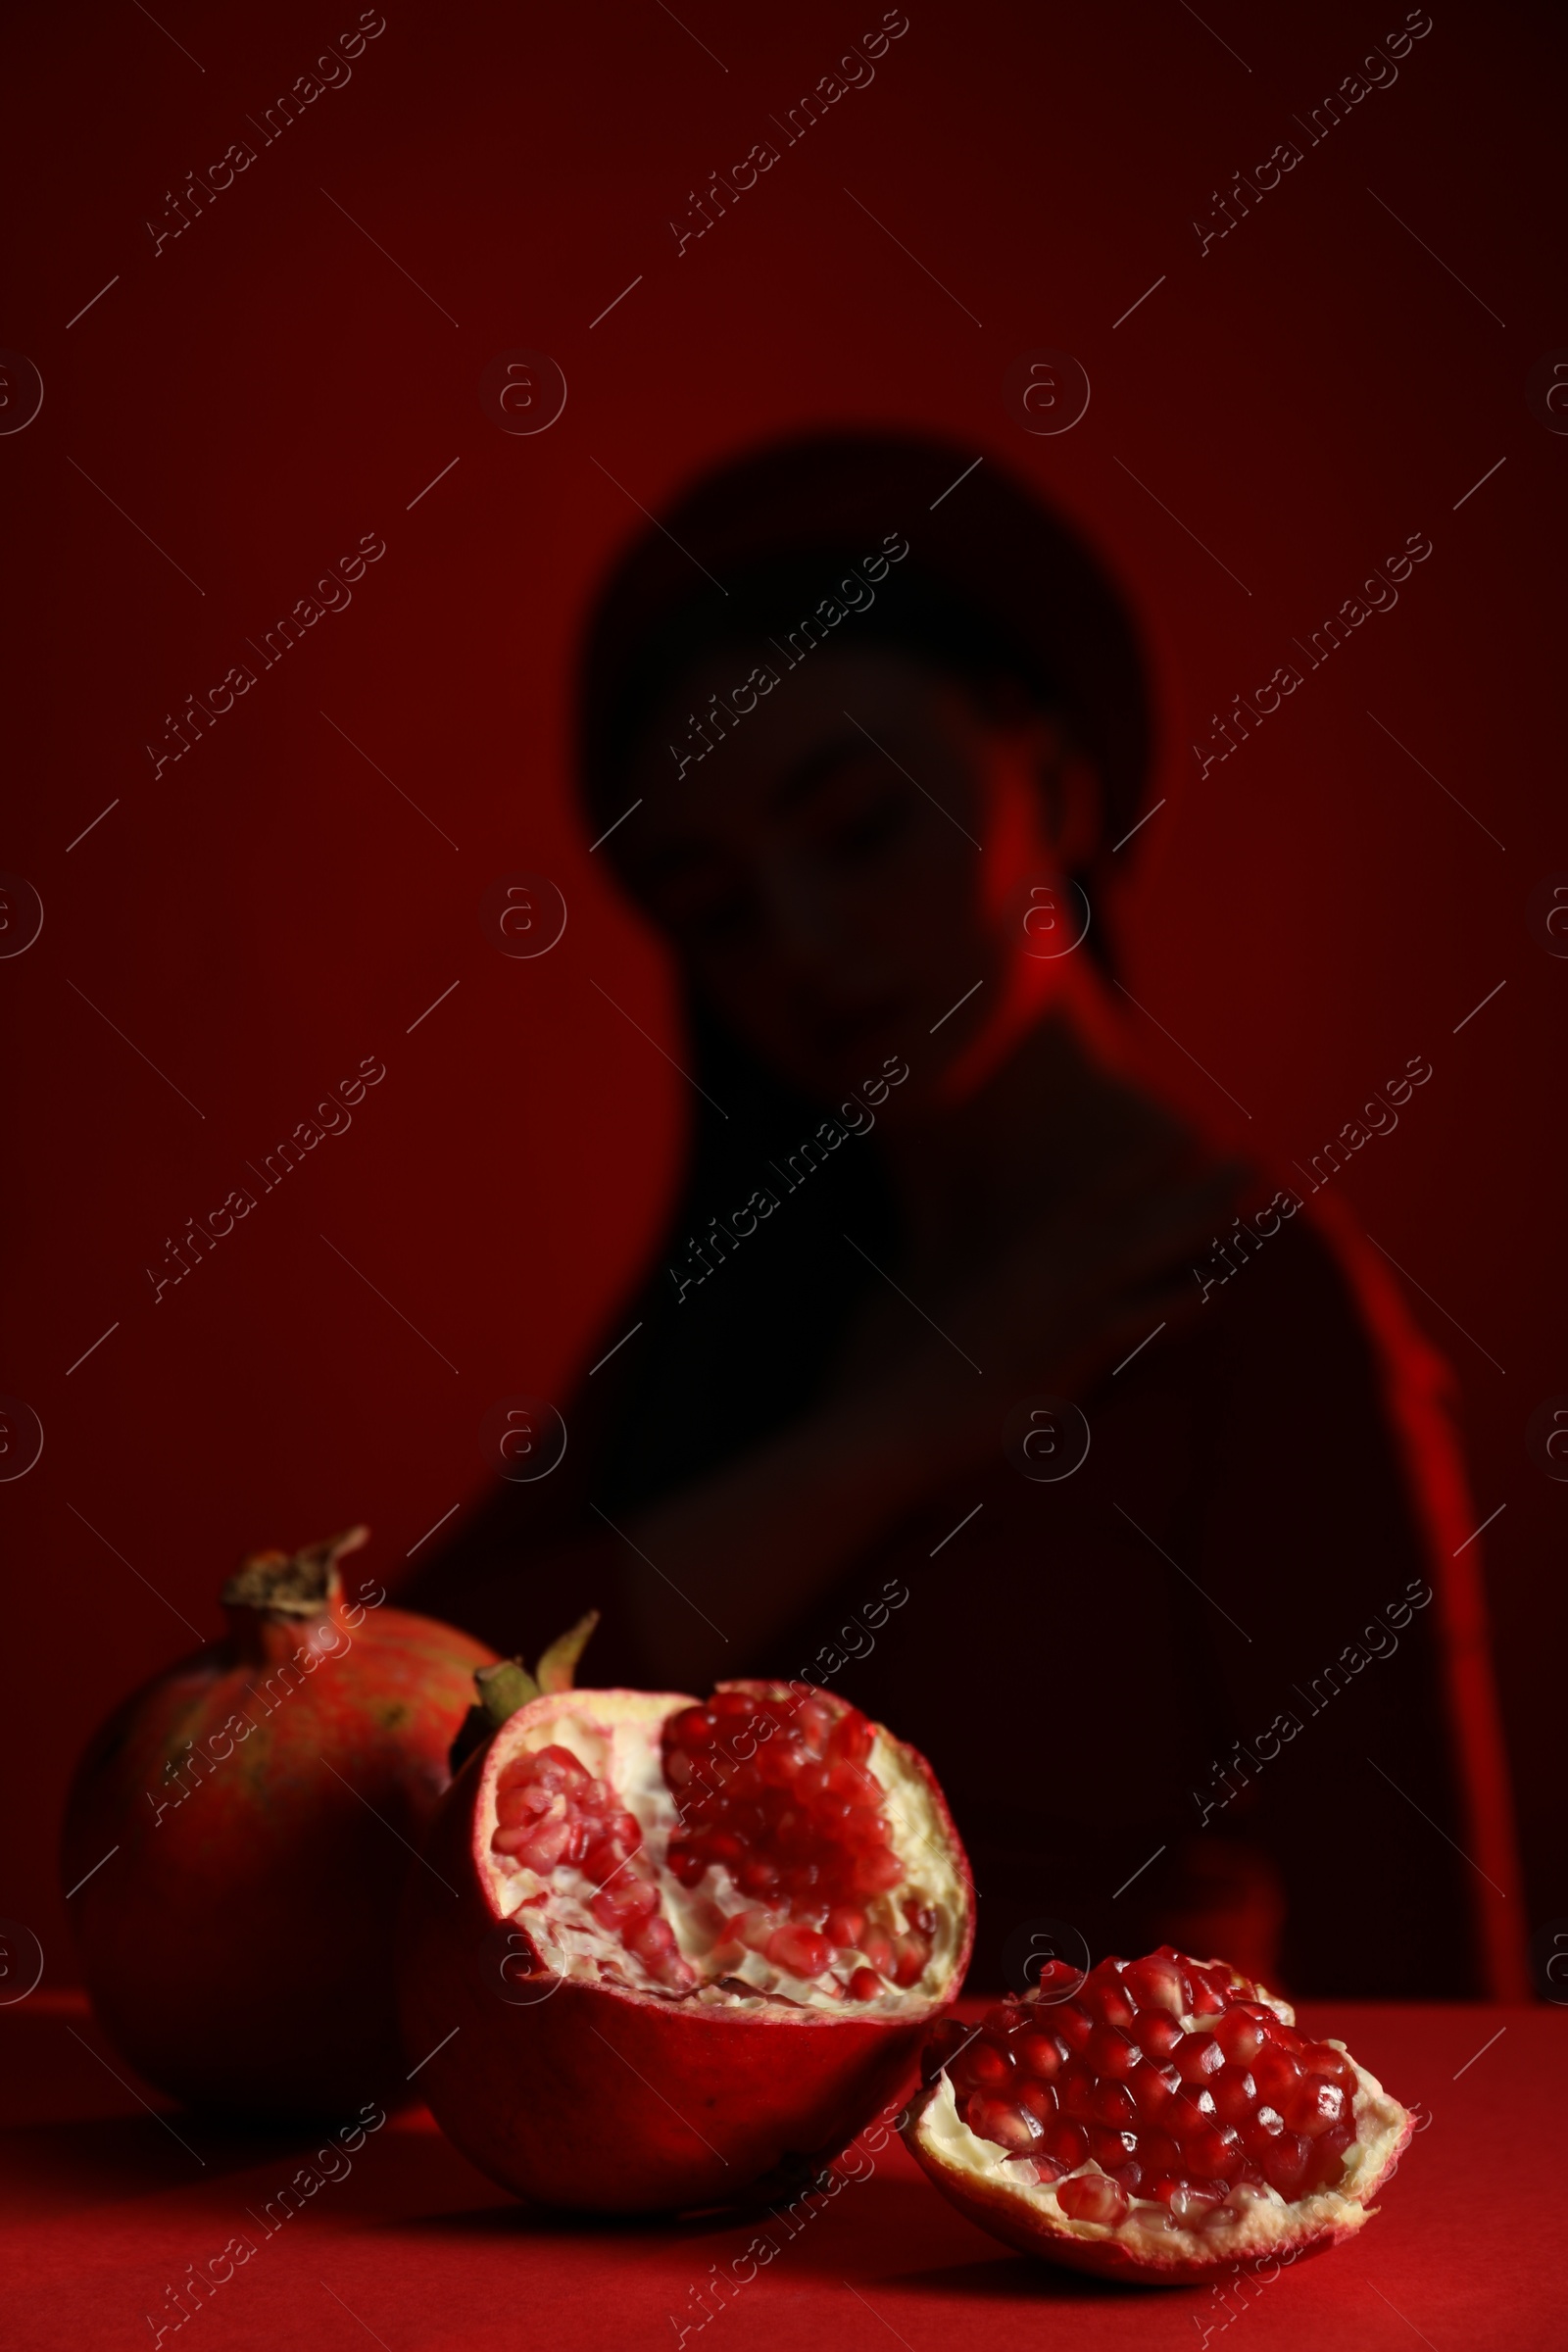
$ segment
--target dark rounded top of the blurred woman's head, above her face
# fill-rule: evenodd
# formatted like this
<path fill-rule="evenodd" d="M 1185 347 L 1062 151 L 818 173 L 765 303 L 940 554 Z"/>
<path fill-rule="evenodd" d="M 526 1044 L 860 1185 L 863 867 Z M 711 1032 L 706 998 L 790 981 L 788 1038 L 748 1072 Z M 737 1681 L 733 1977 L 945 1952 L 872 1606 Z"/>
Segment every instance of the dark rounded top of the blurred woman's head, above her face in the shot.
<path fill-rule="evenodd" d="M 595 835 L 625 809 L 628 762 L 670 682 L 724 647 L 748 668 L 790 666 L 809 621 L 818 642 L 896 644 L 980 696 L 1056 710 L 1100 781 L 1100 851 L 1135 821 L 1152 750 L 1143 647 L 1084 541 L 994 459 L 844 433 L 717 468 L 614 569 L 581 670 Z"/>

